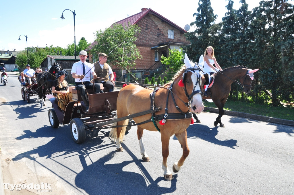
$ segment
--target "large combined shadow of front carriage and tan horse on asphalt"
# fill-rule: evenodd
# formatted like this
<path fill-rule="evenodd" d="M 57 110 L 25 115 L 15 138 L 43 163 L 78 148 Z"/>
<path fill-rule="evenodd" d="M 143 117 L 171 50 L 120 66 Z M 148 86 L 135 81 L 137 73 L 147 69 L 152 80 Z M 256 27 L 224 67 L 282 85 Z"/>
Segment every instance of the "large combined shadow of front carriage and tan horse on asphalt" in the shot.
<path fill-rule="evenodd" d="M 128 147 L 122 143 L 125 150 L 124 155 L 130 155 L 131 160 L 126 160 L 121 163 L 109 164 L 107 163 L 115 155 L 121 154 L 116 152 L 116 144 L 108 139 L 109 132 L 100 131 L 98 137 L 89 139 L 91 135 L 87 135 L 87 138 L 83 144 L 76 144 L 71 139 L 71 134 L 69 131 L 65 130 L 69 127 L 64 125 L 57 129 L 52 129 L 50 126 L 44 126 L 36 132 L 31 132 L 30 130 L 25 130 L 24 135 L 16 137 L 16 139 L 34 139 L 43 137 L 53 137 L 48 143 L 36 147 L 30 151 L 23 152 L 16 155 L 12 160 L 17 161 L 23 158 L 28 158 L 34 163 L 39 164 L 58 176 L 61 180 L 71 185 L 81 194 L 83 189 L 88 194 L 166 194 L 173 193 L 176 190 L 177 174 L 174 174 L 174 179 L 168 185 L 170 187 L 161 187 L 158 185 L 160 181 L 165 181 L 163 176 L 159 176 L 157 179 L 153 180 L 151 175 L 148 173 L 144 167 L 144 162 L 142 159 L 138 159 Z M 102 134 L 102 135 L 101 135 Z M 97 138 L 97 139 L 96 139 Z M 93 140 L 94 139 L 94 140 Z M 103 140 L 104 139 L 104 140 Z M 89 154 L 103 150 L 109 147 L 113 147 L 113 151 L 109 152 L 105 156 L 93 162 L 91 159 L 91 164 L 87 165 L 86 158 L 89 158 Z M 114 151 L 115 150 L 115 151 Z M 75 172 L 74 168 L 78 162 L 72 164 L 73 167 L 66 166 L 62 164 L 61 161 L 56 157 L 72 158 L 73 160 L 78 158 L 83 167 L 83 170 L 79 173 Z M 58 163 L 58 166 L 66 167 L 70 169 L 73 174 L 76 174 L 75 184 L 67 181 L 66 178 L 61 176 L 57 170 L 53 169 L 45 164 L 43 164 L 38 157 L 46 157 L 54 162 Z M 43 160 L 44 161 L 44 160 Z M 75 160 L 76 161 L 76 160 Z M 140 174 L 136 172 L 124 171 L 123 168 L 128 164 L 136 164 L 136 167 L 140 170 Z M 133 165 L 132 165 L 133 166 Z M 147 184 L 148 183 L 148 184 Z"/>

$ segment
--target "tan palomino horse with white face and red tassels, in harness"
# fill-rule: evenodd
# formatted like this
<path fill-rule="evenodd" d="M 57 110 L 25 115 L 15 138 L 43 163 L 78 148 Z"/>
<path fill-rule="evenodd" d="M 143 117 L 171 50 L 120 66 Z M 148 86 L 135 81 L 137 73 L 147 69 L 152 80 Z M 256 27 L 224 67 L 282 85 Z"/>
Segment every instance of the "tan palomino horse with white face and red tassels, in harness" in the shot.
<path fill-rule="evenodd" d="M 150 93 L 152 94 L 151 90 L 139 85 L 127 85 L 121 89 L 117 98 L 118 118 L 150 110 L 152 109 L 152 105 L 162 108 L 161 111 L 154 114 L 155 117 L 158 117 L 158 119 L 156 119 L 157 122 L 151 122 L 151 113 L 133 117 L 133 120 L 137 124 L 146 122 L 138 125 L 137 130 L 142 159 L 145 162 L 149 162 L 150 159 L 142 142 L 143 130 L 160 132 L 163 156 L 162 169 L 164 171 L 164 178 L 167 180 L 173 179 L 173 175 L 167 167 L 170 137 L 175 135 L 183 148 L 182 157 L 173 165 L 173 172 L 178 172 L 190 151 L 187 145 L 186 132 L 186 128 L 190 125 L 192 117 L 191 112 L 189 112 L 190 107 L 192 112 L 197 114 L 201 113 L 204 109 L 201 86 L 205 78 L 201 71 L 199 71 L 200 69 L 198 66 L 190 62 L 187 54 L 185 54 L 184 62 L 186 68 L 183 66 L 182 70 L 174 76 L 173 82 L 164 85 L 164 88 L 154 91 L 154 101 L 152 101 L 152 97 L 150 97 Z M 166 116 L 166 118 L 164 116 Z M 127 124 L 128 120 L 117 122 L 118 126 Z M 156 126 L 154 124 L 156 124 Z M 116 126 L 116 123 L 113 123 L 113 126 Z M 123 140 L 125 132 L 126 127 L 117 127 L 112 128 L 109 135 L 113 140 L 116 140 L 117 151 L 119 152 L 123 151 L 121 141 Z"/>

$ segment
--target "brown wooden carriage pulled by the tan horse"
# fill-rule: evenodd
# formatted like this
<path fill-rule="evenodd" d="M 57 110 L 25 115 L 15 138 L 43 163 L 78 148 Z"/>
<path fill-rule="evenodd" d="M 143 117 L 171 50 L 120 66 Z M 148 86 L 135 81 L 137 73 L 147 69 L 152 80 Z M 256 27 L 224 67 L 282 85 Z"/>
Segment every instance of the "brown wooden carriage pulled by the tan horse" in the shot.
<path fill-rule="evenodd" d="M 63 111 L 58 106 L 58 100 L 53 95 L 46 95 L 52 103 L 48 117 L 51 127 L 57 128 L 59 125 L 70 123 L 71 136 L 76 143 L 82 143 L 86 139 L 86 130 L 97 132 L 108 128 L 113 123 L 116 115 L 116 99 L 119 91 L 93 94 L 93 90 L 87 90 L 89 99 L 89 110 L 85 112 L 84 104 L 80 91 L 75 86 L 70 86 L 72 92 L 72 102 L 69 102 Z M 111 121 L 111 122 L 110 122 Z M 131 118 L 127 130 L 131 129 Z"/>

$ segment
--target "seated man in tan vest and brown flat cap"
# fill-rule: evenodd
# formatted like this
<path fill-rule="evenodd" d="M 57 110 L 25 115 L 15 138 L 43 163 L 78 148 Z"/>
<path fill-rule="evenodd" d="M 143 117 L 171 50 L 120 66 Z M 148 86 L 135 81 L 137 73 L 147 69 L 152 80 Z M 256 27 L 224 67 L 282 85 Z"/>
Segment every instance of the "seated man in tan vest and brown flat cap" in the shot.
<path fill-rule="evenodd" d="M 114 81 L 113 81 L 113 72 L 111 67 L 106 63 L 108 56 L 105 53 L 98 53 L 99 61 L 95 62 L 93 65 L 95 68 L 95 73 L 98 78 L 103 78 L 101 80 L 95 79 L 95 83 L 102 84 L 103 87 L 109 89 L 109 92 L 114 89 Z M 110 76 L 110 80 L 109 80 Z"/>

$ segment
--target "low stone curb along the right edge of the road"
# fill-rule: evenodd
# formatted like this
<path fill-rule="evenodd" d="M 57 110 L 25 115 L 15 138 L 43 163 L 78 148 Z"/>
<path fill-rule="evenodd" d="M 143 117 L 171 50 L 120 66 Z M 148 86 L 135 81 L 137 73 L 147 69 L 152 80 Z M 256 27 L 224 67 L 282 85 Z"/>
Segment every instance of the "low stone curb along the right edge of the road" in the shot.
<path fill-rule="evenodd" d="M 205 111 L 218 113 L 218 108 L 211 108 L 211 107 L 204 107 Z M 286 120 L 286 119 L 279 119 L 279 118 L 273 118 L 273 117 L 266 117 L 261 115 L 254 115 L 254 114 L 248 114 L 244 112 L 236 112 L 236 111 L 230 111 L 225 110 L 225 115 L 231 115 L 231 116 L 237 116 L 237 117 L 243 117 L 243 118 L 250 118 L 254 120 L 260 120 L 265 122 L 271 122 L 271 123 L 277 123 L 281 125 L 288 125 L 288 126 L 294 126 L 294 120 Z"/>

